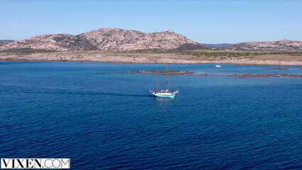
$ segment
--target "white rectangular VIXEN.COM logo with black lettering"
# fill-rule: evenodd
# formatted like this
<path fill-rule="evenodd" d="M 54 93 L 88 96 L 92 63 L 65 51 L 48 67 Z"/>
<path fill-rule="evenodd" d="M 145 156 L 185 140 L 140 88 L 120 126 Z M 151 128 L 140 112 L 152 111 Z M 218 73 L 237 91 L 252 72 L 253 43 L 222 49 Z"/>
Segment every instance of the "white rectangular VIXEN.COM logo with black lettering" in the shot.
<path fill-rule="evenodd" d="M 1 169 L 70 169 L 70 159 L 1 158 Z"/>

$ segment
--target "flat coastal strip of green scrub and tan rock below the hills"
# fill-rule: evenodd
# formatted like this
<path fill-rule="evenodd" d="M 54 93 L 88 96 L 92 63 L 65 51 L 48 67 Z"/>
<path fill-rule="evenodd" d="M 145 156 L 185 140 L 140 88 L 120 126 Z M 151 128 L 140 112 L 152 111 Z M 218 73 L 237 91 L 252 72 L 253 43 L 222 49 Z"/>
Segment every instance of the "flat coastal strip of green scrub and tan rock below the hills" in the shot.
<path fill-rule="evenodd" d="M 257 52 L 235 50 L 55 51 L 23 48 L 1 51 L 0 60 L 174 64 L 227 63 L 302 65 L 302 52 Z"/>

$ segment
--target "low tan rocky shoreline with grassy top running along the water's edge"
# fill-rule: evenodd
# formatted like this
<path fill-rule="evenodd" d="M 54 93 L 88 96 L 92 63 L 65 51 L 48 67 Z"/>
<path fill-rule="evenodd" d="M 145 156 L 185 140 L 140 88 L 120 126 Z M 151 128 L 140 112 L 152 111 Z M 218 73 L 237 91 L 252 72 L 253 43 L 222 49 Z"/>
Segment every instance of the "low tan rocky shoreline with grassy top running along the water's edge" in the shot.
<path fill-rule="evenodd" d="M 55 61 L 55 62 L 115 62 L 133 64 L 249 64 L 298 65 L 300 55 L 249 55 L 247 57 L 195 56 L 190 53 L 140 53 L 140 52 L 0 52 L 3 61 Z"/>

